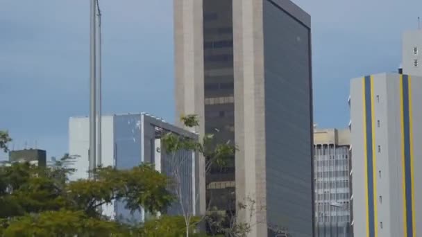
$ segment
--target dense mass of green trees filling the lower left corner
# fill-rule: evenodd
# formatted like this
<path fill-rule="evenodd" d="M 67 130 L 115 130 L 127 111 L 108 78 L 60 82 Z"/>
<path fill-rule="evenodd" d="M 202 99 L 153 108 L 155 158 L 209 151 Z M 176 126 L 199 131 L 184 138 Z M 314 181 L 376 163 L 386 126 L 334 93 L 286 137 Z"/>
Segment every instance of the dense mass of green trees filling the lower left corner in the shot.
<path fill-rule="evenodd" d="M 144 164 L 130 170 L 98 168 L 96 179 L 69 182 L 66 159 L 53 167 L 14 163 L 0 167 L 3 236 L 148 236 L 101 216 L 101 204 L 124 200 L 130 211 L 164 211 L 174 197 L 168 178 Z M 124 233 L 124 234 L 122 234 Z M 138 233 L 137 235 L 135 235 Z"/>

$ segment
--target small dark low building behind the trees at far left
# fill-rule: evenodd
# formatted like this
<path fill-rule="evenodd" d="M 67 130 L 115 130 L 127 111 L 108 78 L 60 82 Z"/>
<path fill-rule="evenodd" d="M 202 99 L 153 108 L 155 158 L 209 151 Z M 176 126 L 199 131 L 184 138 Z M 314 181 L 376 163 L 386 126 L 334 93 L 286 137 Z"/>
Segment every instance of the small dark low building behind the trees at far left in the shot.
<path fill-rule="evenodd" d="M 12 150 L 9 152 L 10 162 L 29 162 L 37 166 L 47 166 L 47 152 L 40 149 Z"/>

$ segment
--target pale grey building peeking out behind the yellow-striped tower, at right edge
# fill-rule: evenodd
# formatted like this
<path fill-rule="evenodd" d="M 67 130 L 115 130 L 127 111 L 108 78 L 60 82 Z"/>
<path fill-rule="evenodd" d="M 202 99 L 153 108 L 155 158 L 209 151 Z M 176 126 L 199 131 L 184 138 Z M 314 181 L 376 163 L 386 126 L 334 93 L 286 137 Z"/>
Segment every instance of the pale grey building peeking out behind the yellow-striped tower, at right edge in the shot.
<path fill-rule="evenodd" d="M 403 33 L 403 73 L 422 76 L 422 30 Z"/>

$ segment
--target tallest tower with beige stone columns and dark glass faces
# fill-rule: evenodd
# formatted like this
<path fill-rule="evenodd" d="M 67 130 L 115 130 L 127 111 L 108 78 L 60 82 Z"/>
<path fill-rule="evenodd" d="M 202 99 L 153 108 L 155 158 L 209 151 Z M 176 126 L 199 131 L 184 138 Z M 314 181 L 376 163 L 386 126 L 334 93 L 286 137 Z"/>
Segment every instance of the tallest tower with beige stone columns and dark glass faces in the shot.
<path fill-rule="evenodd" d="M 206 175 L 201 207 L 253 200 L 237 212 L 249 236 L 312 236 L 310 15 L 289 0 L 174 0 L 174 16 L 177 116 L 239 148 Z"/>

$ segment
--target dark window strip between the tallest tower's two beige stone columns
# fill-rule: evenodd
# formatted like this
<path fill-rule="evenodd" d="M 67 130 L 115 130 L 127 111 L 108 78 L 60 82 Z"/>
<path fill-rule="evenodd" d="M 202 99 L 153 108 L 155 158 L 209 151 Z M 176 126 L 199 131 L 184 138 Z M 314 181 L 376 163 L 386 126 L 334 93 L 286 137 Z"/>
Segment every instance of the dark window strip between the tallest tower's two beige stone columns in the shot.
<path fill-rule="evenodd" d="M 205 133 L 217 141 L 235 142 L 235 103 L 233 75 L 233 2 L 203 1 L 203 51 Z M 221 186 L 235 181 L 235 162 L 226 168 L 212 168 L 207 175 L 207 207 L 235 210 L 234 186 Z M 209 188 L 212 186 L 212 188 Z M 221 187 L 221 188 L 216 188 Z"/>

